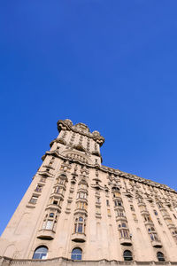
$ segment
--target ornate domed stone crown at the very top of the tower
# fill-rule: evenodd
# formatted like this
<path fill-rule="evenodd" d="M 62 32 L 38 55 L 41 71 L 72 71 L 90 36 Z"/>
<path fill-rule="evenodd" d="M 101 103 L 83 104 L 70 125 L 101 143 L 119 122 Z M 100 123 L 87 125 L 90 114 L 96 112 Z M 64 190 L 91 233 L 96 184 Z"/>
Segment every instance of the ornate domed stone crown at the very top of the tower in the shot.
<path fill-rule="evenodd" d="M 104 144 L 104 137 L 102 137 L 98 131 L 95 130 L 90 132 L 89 127 L 81 122 L 73 125 L 73 121 L 70 119 L 58 120 L 58 132 L 61 130 L 72 130 L 75 133 L 93 138 L 100 146 Z"/>

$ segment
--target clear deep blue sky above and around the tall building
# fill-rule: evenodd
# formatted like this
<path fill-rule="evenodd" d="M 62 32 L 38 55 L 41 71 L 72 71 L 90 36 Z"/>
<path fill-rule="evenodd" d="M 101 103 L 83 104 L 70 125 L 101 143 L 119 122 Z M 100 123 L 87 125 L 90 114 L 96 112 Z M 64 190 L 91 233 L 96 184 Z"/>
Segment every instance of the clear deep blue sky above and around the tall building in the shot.
<path fill-rule="evenodd" d="M 1 1 L 0 232 L 59 119 L 101 132 L 104 165 L 177 189 L 176 10 L 176 0 Z"/>

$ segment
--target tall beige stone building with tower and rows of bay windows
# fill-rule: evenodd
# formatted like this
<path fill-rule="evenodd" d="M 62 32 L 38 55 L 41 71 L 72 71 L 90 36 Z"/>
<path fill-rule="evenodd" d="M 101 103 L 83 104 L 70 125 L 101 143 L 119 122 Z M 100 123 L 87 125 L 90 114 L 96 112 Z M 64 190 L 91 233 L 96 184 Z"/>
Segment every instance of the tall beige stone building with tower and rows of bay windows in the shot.
<path fill-rule="evenodd" d="M 0 265 L 177 265 L 177 194 L 102 165 L 104 137 L 59 135 L 0 240 Z"/>

